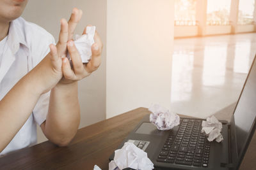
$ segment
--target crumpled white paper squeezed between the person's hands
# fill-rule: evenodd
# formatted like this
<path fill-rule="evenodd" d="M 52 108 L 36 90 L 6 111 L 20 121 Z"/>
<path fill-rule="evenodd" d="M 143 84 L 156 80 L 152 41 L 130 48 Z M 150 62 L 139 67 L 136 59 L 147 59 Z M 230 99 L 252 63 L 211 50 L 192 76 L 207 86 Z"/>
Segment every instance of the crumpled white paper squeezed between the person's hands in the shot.
<path fill-rule="evenodd" d="M 92 45 L 95 43 L 95 30 L 95 26 L 86 27 L 86 34 L 83 34 L 82 36 L 75 36 L 74 43 L 83 63 L 89 62 L 92 57 Z M 67 57 L 71 60 L 69 53 L 67 53 Z"/>

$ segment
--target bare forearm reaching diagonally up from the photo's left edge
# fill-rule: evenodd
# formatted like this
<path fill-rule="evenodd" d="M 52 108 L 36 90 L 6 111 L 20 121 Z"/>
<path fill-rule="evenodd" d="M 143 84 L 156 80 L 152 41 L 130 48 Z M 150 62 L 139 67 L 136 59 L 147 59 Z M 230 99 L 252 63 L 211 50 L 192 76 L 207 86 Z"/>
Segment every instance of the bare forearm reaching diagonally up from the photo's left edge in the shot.
<path fill-rule="evenodd" d="M 60 81 L 62 74 L 54 71 L 52 60 L 49 53 L 0 101 L 0 152 L 24 125 L 41 94 L 51 90 Z"/>

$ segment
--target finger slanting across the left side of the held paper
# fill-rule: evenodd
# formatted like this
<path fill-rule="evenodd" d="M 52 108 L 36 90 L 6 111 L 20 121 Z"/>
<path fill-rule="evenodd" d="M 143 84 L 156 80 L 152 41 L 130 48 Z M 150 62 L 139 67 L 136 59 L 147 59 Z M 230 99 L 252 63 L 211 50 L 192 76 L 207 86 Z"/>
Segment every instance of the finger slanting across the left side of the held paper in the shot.
<path fill-rule="evenodd" d="M 77 51 L 74 41 L 72 40 L 68 41 L 68 53 L 70 54 L 75 74 L 83 73 L 83 62 L 79 55 L 79 52 Z"/>

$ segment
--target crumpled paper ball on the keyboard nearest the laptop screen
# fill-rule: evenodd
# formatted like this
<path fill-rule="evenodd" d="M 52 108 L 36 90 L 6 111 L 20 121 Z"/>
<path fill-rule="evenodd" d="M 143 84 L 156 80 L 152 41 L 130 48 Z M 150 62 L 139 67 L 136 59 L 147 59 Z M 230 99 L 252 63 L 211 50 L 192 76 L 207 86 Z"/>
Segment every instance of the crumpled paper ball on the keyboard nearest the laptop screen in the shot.
<path fill-rule="evenodd" d="M 221 129 L 221 122 L 219 122 L 218 119 L 214 116 L 207 117 L 206 121 L 202 121 L 202 132 L 207 134 L 208 141 L 214 141 L 214 139 L 216 139 L 217 142 L 221 142 L 223 140 Z"/>

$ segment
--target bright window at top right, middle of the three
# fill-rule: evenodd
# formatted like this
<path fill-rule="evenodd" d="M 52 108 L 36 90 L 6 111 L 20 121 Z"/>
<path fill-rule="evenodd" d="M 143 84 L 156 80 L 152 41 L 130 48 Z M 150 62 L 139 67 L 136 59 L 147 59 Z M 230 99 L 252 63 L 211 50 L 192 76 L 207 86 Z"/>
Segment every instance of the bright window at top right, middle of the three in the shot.
<path fill-rule="evenodd" d="M 207 25 L 230 25 L 230 5 L 231 0 L 207 0 Z"/>

